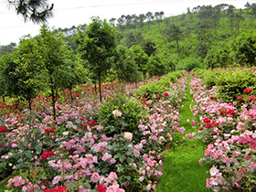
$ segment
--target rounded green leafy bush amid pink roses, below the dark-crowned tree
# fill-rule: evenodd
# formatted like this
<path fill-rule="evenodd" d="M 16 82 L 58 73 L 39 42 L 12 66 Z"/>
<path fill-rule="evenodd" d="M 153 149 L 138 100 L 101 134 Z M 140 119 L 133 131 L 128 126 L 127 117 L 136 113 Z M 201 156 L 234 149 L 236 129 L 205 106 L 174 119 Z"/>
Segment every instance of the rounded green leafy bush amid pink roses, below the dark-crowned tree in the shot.
<path fill-rule="evenodd" d="M 114 110 L 122 112 L 121 116 L 114 116 Z M 138 133 L 138 125 L 141 120 L 144 120 L 146 111 L 141 103 L 138 103 L 133 98 L 129 98 L 123 93 L 117 94 L 113 98 L 101 104 L 101 109 L 98 112 L 101 125 L 104 126 L 104 133 L 113 136 L 115 133 L 130 132 L 133 133 L 133 139 L 139 141 L 141 138 L 136 138 Z"/>

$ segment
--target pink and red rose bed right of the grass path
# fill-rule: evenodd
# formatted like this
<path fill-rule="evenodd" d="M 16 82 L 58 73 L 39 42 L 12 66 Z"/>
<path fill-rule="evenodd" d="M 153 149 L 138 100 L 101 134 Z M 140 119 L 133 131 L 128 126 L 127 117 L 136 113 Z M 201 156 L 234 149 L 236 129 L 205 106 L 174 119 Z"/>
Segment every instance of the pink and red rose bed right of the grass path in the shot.
<path fill-rule="evenodd" d="M 224 102 L 219 99 L 218 87 L 208 90 L 202 79 L 192 77 L 191 111 L 198 129 L 197 138 L 207 145 L 199 163 L 211 165 L 207 187 L 214 191 L 255 190 L 255 91 L 252 87 L 245 88 L 235 101 Z"/>

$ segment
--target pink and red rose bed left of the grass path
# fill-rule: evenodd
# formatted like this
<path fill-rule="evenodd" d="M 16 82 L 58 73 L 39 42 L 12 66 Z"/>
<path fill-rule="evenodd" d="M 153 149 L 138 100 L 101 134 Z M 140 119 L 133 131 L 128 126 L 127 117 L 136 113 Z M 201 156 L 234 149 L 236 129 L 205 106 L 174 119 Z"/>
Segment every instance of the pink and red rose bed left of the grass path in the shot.
<path fill-rule="evenodd" d="M 133 97 L 143 84 L 110 85 L 102 104 L 92 91 L 80 89 L 72 102 L 59 98 L 56 120 L 48 98 L 37 98 L 32 112 L 3 104 L 0 154 L 2 165 L 14 170 L 7 187 L 13 192 L 154 190 L 165 144 L 172 132 L 185 131 L 177 116 L 187 76 L 146 103 Z M 180 95 L 176 107 L 173 94 Z"/>

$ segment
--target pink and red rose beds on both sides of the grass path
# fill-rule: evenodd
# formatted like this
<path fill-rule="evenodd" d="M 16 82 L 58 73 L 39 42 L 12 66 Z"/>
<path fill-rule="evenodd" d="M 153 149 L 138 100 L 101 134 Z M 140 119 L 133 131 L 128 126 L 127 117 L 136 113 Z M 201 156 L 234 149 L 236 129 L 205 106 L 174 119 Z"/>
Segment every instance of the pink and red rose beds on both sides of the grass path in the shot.
<path fill-rule="evenodd" d="M 254 71 L 251 70 L 251 72 Z M 181 73 L 182 74 L 182 73 Z M 206 187 L 213 191 L 255 189 L 255 90 L 243 88 L 225 102 L 191 72 L 191 139 L 204 142 L 199 164 L 210 165 Z M 162 176 L 164 149 L 179 127 L 187 73 L 139 83 L 64 91 L 52 116 L 50 97 L 0 108 L 1 172 L 12 173 L 12 191 L 154 191 Z M 226 96 L 225 96 L 226 97 Z M 224 97 L 224 98 L 225 98 Z"/>

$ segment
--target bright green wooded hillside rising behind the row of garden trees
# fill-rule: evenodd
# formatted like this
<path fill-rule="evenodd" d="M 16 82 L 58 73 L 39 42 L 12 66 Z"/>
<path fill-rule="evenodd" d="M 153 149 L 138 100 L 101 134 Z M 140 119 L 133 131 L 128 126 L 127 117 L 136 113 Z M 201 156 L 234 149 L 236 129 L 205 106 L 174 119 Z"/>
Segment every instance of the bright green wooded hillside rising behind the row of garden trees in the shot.
<path fill-rule="evenodd" d="M 120 16 L 108 22 L 117 29 L 117 42 L 127 48 L 141 46 L 162 69 L 224 67 L 254 63 L 256 4 L 245 9 L 233 5 L 198 5 L 187 13 L 165 17 L 164 12 Z M 88 25 L 58 28 L 69 47 L 77 51 L 75 37 Z M 243 47 L 241 47 L 243 46 Z M 14 44 L 0 47 L 0 56 L 12 52 Z M 249 57 L 249 55 L 251 57 Z M 248 57 L 249 58 L 248 58 Z M 203 63 L 203 64 L 202 64 Z"/>

